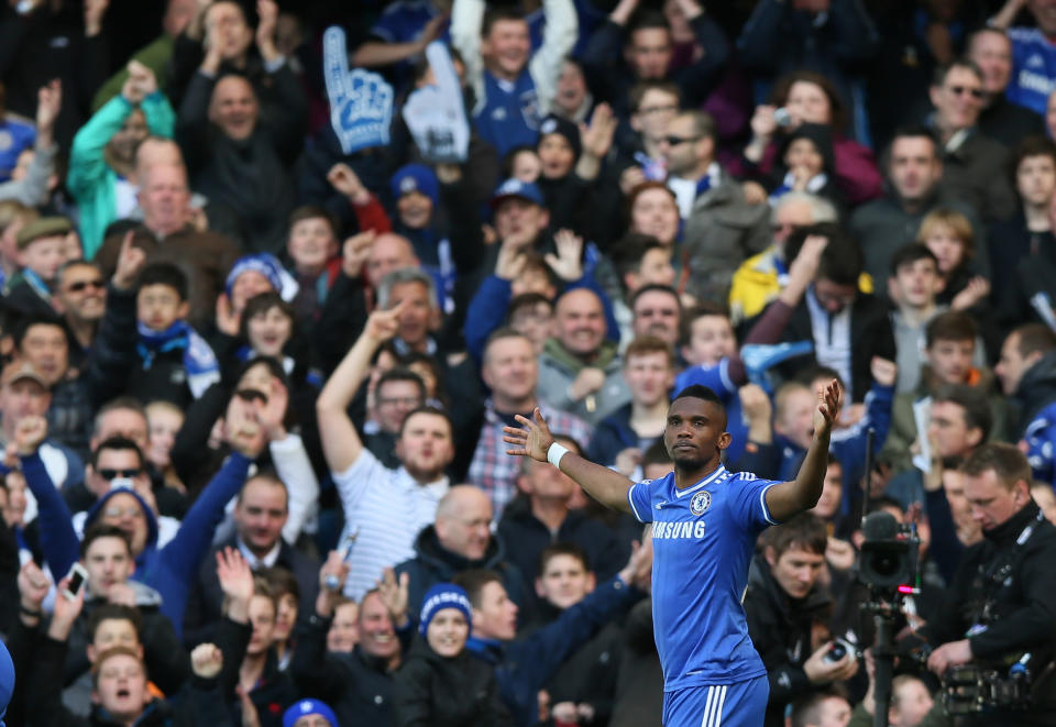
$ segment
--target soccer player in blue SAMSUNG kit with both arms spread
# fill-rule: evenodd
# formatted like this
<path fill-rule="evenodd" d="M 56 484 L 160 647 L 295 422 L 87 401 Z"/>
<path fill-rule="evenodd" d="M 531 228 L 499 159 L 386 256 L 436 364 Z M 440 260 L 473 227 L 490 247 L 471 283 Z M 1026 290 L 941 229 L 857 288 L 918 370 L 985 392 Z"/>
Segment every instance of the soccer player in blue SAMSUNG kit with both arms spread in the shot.
<path fill-rule="evenodd" d="M 712 389 L 683 389 L 668 409 L 663 443 L 674 472 L 631 483 L 553 441 L 539 410 L 506 427 L 512 455 L 549 461 L 602 504 L 652 524 L 652 618 L 663 667 L 666 727 L 757 727 L 767 672 L 748 638 L 741 594 L 759 532 L 814 507 L 839 412 L 834 379 L 817 390 L 814 438 L 792 482 L 727 472 L 726 411 Z"/>

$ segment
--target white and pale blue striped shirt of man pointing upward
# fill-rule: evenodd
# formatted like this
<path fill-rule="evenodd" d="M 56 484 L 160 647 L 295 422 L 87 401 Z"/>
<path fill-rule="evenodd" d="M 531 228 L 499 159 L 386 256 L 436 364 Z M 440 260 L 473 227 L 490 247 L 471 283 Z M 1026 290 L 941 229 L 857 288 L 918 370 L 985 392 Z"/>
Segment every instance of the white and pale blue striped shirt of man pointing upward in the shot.
<path fill-rule="evenodd" d="M 359 459 L 333 482 L 344 509 L 340 548 L 351 544 L 344 595 L 360 601 L 382 571 L 415 557 L 415 538 L 437 516 L 448 477 L 419 484 L 407 470 L 389 470 L 363 448 Z"/>

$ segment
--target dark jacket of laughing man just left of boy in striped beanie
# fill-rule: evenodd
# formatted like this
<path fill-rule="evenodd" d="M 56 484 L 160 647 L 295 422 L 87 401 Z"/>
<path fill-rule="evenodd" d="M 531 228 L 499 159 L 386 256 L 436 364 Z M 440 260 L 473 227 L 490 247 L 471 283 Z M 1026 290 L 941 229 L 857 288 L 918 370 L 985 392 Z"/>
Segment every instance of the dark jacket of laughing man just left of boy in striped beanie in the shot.
<path fill-rule="evenodd" d="M 351 653 L 328 653 L 330 619 L 312 615 L 297 625 L 297 649 L 289 670 L 301 697 L 329 704 L 341 727 L 387 727 L 393 724 L 393 675 L 387 665 L 359 647 Z"/>

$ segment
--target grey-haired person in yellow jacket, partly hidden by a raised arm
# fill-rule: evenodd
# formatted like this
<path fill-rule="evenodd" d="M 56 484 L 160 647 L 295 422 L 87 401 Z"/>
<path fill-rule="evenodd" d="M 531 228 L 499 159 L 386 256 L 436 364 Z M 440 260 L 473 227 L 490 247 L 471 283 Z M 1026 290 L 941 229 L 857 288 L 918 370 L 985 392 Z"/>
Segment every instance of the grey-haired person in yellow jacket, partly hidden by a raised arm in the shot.
<path fill-rule="evenodd" d="M 790 191 L 774 205 L 771 219 L 773 242 L 734 273 L 729 289 L 729 317 L 734 326 L 761 313 L 788 284 L 792 261 L 785 257 L 784 243 L 792 232 L 820 222 L 835 222 L 836 208 L 809 191 Z"/>

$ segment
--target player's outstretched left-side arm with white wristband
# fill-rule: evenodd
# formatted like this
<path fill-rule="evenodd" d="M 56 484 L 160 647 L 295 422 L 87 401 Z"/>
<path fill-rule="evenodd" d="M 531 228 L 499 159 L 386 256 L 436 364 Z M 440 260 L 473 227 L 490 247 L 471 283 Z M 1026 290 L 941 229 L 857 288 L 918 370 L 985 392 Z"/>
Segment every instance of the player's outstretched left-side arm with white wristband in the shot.
<path fill-rule="evenodd" d="M 630 505 L 627 503 L 627 491 L 634 484 L 630 480 L 608 467 L 584 460 L 560 444 L 554 447 L 554 459 L 550 460 L 548 454 L 554 443 L 553 434 L 550 433 L 538 407 L 532 412 L 532 419 L 517 415 L 517 421 L 524 427 L 503 427 L 503 441 L 514 445 L 514 449 L 506 450 L 507 454 L 530 456 L 539 462 L 556 462 L 561 472 L 580 483 L 583 489 L 602 505 L 620 513 L 630 513 Z"/>

